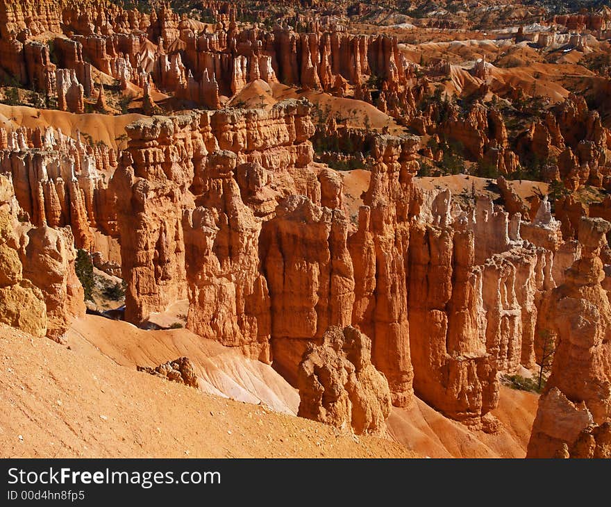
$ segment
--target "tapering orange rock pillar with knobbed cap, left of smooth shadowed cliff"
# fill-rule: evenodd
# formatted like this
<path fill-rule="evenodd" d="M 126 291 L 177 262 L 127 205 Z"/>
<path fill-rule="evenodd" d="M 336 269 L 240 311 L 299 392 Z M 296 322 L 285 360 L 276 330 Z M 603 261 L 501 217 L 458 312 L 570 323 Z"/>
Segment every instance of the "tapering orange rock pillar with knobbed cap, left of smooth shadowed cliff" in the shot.
<path fill-rule="evenodd" d="M 183 214 L 187 327 L 269 363 L 269 292 L 258 257 L 261 220 L 242 202 L 236 163 L 232 151 L 211 153 L 198 207 Z"/>

